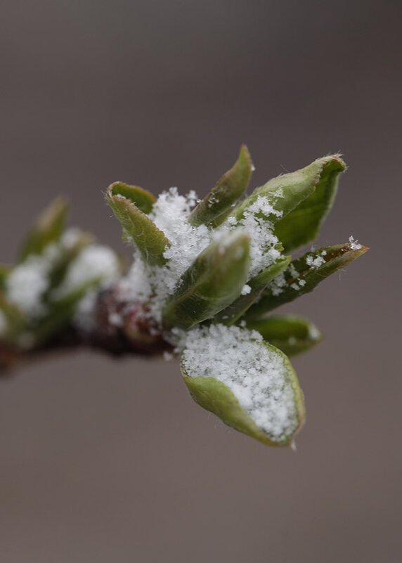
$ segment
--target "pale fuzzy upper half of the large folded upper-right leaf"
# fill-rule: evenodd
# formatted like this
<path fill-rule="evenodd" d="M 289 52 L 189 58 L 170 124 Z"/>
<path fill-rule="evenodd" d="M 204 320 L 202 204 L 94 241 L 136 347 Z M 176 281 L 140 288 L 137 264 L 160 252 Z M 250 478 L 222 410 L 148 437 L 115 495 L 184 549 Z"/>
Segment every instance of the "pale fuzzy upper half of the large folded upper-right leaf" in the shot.
<path fill-rule="evenodd" d="M 337 155 L 318 158 L 309 166 L 282 174 L 268 181 L 264 186 L 257 188 L 240 205 L 236 206 L 231 213 L 235 219 L 242 219 L 248 207 L 254 204 L 258 198 L 265 198 L 272 205 L 274 212 L 268 218 L 273 224 L 283 220 L 287 214 L 293 211 L 302 201 L 309 198 L 316 190 L 320 179 L 326 176 L 328 170 L 344 169 L 344 162 Z M 283 228 L 283 235 L 287 234 Z M 282 240 L 280 240 L 282 242 Z M 284 245 L 285 250 L 287 247 Z"/>

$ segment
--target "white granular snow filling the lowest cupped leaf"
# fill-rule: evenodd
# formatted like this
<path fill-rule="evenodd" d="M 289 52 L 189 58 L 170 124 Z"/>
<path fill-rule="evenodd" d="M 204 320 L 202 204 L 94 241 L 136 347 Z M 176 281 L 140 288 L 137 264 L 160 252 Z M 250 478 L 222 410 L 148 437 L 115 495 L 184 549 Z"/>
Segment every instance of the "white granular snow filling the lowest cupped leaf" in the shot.
<path fill-rule="evenodd" d="M 190 330 L 183 351 L 189 377 L 214 377 L 271 438 L 281 441 L 299 424 L 284 358 L 255 330 L 211 325 Z"/>

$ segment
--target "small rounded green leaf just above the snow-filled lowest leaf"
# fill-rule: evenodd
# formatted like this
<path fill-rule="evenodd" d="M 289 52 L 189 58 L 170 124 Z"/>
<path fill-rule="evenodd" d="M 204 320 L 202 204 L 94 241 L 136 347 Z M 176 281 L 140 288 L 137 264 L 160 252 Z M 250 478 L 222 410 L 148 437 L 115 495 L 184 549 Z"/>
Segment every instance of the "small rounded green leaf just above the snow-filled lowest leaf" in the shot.
<path fill-rule="evenodd" d="M 247 322 L 247 328 L 260 335 L 287 356 L 296 356 L 316 346 L 323 333 L 308 318 L 296 315 L 275 315 Z"/>

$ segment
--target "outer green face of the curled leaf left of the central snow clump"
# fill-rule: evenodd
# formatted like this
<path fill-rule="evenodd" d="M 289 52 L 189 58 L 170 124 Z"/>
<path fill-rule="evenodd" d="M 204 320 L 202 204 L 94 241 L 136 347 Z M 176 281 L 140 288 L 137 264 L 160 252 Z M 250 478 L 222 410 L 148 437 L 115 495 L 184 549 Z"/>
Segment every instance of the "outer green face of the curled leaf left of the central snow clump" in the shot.
<path fill-rule="evenodd" d="M 113 194 L 112 186 L 109 186 L 106 198 L 122 224 L 127 240 L 132 240 L 136 244 L 149 264 L 162 266 L 166 262 L 163 253 L 170 245 L 169 240 L 134 202 L 123 195 Z"/>

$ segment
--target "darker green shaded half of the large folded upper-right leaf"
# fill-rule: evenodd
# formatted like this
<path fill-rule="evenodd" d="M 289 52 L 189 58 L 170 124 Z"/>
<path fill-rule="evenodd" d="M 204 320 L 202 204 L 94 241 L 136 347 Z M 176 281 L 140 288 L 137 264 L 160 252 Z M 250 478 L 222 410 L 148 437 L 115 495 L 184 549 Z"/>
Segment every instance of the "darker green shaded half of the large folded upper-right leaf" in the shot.
<path fill-rule="evenodd" d="M 317 237 L 337 195 L 339 174 L 345 169 L 346 165 L 339 157 L 323 164 L 313 193 L 275 224 L 275 235 L 285 252 L 292 252 Z"/>

